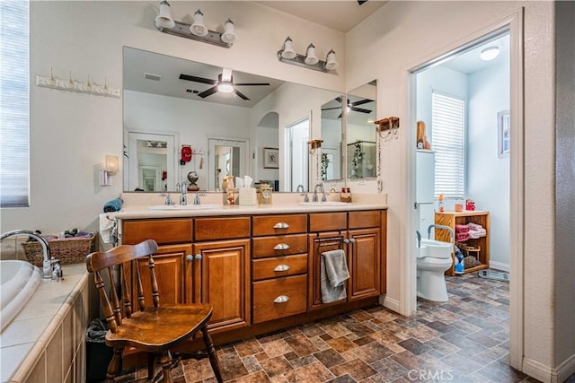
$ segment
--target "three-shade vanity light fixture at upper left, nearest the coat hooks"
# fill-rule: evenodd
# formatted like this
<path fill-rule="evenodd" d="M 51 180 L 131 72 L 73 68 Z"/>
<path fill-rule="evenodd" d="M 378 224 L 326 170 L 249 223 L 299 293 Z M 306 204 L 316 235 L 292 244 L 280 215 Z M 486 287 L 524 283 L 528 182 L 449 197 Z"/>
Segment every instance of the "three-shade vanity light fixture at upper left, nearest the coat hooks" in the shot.
<path fill-rule="evenodd" d="M 161 32 L 186 39 L 207 42 L 222 48 L 232 48 L 237 37 L 234 22 L 230 19 L 224 23 L 224 32 L 208 30 L 204 24 L 204 13 L 198 9 L 193 15 L 193 23 L 177 22 L 170 14 L 170 4 L 164 0 L 160 3 L 160 13 L 155 17 L 155 28 Z"/>

